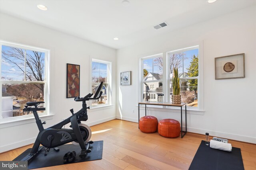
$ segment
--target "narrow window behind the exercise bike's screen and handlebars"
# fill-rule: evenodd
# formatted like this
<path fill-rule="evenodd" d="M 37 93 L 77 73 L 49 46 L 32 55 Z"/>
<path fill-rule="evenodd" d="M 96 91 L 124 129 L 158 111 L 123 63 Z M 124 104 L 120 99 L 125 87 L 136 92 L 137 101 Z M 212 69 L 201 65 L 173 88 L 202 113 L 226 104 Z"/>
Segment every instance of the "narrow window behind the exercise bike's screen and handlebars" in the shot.
<path fill-rule="evenodd" d="M 111 63 L 92 59 L 92 93 L 95 94 L 100 82 L 103 82 L 102 96 L 92 101 L 92 107 L 110 104 L 110 70 Z"/>

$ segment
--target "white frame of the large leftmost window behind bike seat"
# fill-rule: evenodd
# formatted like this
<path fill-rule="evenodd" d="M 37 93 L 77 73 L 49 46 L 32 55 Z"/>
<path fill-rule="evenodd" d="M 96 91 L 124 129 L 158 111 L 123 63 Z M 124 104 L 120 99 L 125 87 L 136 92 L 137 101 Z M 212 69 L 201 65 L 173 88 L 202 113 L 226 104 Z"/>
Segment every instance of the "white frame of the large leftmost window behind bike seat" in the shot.
<path fill-rule="evenodd" d="M 2 123 L 9 123 L 9 122 L 14 122 L 14 121 L 21 121 L 21 120 L 27 120 L 27 119 L 32 119 L 34 118 L 33 114 L 29 114 L 29 115 L 22 115 L 22 116 L 16 116 L 16 117 L 8 117 L 8 118 L 3 118 L 2 119 L 2 84 L 6 84 L 6 83 L 12 83 L 12 84 L 44 84 L 44 107 L 46 108 L 46 110 L 44 111 L 44 113 L 40 113 L 39 116 L 48 116 L 50 115 L 50 50 L 48 49 L 43 49 L 43 48 L 39 48 L 39 47 L 33 47 L 30 45 L 24 45 L 24 44 L 20 44 L 20 43 L 13 43 L 13 42 L 9 42 L 9 41 L 4 41 L 4 40 L 0 40 L 0 61 L 2 61 L 2 45 L 4 46 L 9 46 L 9 47 L 16 47 L 16 48 L 21 48 L 21 49 L 26 49 L 26 50 L 31 50 L 31 51 L 38 51 L 38 52 L 42 52 L 45 53 L 45 58 L 44 58 L 44 81 L 39 82 L 39 81 L 6 81 L 6 80 L 1 80 L 0 79 L 0 124 Z M 0 77 L 1 77 L 1 63 L 0 63 Z M 22 123 L 20 123 L 22 124 Z"/>

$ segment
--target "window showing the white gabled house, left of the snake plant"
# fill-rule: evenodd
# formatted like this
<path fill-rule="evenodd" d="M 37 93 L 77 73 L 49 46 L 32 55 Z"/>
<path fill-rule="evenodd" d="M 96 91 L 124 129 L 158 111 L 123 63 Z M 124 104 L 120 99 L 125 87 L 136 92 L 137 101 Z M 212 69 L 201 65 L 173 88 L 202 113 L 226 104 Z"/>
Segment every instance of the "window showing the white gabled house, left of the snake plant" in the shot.
<path fill-rule="evenodd" d="M 156 100 L 156 97 L 148 96 L 148 94 L 162 94 L 162 79 L 163 79 L 163 57 L 162 55 L 154 55 L 142 59 L 142 84 L 144 102 Z"/>

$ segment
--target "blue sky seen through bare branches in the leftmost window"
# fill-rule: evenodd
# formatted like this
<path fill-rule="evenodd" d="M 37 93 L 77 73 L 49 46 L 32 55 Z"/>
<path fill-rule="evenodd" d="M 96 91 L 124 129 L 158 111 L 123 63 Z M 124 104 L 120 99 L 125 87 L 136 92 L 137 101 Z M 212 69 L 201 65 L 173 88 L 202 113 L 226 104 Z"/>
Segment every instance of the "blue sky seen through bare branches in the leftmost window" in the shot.
<path fill-rule="evenodd" d="M 11 50 L 12 49 L 10 47 L 2 45 L 2 51 L 11 51 Z M 26 53 L 30 54 L 32 57 L 34 56 L 33 51 L 26 50 Z M 42 53 L 41 57 L 44 58 L 44 56 L 45 56 L 45 54 Z M 24 70 L 24 63 L 21 63 L 21 61 L 18 60 L 18 59 L 12 60 L 12 61 L 16 61 L 16 63 L 20 63 L 20 64 L 18 64 L 18 66 L 20 66 Z M 9 79 L 11 79 L 11 80 L 14 80 L 14 81 L 23 81 L 24 80 L 24 72 L 22 72 L 20 70 L 20 68 L 18 68 L 18 66 L 16 66 L 13 63 L 8 63 L 2 57 L 1 77 L 4 77 L 4 78 L 2 78 L 2 80 L 9 80 Z M 30 70 L 28 67 L 26 69 L 27 69 L 27 71 Z M 44 77 L 44 75 L 43 75 L 43 77 Z"/>

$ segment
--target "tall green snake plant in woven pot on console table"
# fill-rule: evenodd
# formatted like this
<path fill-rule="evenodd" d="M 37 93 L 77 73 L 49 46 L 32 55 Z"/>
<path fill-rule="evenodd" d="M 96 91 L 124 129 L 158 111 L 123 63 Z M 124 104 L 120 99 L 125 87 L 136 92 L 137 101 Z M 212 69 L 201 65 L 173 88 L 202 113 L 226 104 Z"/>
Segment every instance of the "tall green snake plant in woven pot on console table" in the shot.
<path fill-rule="evenodd" d="M 178 68 L 173 69 L 171 99 L 172 99 L 172 104 L 181 104 L 180 77 L 178 73 Z"/>

